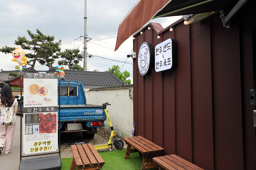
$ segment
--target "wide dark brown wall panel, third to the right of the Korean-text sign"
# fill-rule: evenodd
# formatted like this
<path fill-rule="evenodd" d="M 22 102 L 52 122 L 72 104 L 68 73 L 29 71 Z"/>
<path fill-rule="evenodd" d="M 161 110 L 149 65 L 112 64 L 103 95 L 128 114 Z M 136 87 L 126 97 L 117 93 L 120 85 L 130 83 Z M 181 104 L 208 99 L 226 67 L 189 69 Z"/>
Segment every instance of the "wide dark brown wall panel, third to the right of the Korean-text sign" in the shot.
<path fill-rule="evenodd" d="M 243 169 L 239 27 L 211 26 L 216 169 Z"/>

